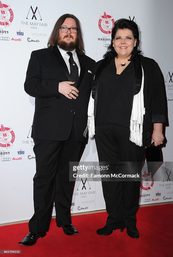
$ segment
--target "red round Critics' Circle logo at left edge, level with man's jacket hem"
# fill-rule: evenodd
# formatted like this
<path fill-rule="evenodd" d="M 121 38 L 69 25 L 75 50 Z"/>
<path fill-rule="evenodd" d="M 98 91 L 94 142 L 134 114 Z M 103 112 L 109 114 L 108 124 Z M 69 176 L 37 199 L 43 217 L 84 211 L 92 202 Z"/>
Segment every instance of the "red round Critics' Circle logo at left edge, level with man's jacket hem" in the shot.
<path fill-rule="evenodd" d="M 15 135 L 11 127 L 0 127 L 0 146 L 10 148 L 14 142 Z"/>

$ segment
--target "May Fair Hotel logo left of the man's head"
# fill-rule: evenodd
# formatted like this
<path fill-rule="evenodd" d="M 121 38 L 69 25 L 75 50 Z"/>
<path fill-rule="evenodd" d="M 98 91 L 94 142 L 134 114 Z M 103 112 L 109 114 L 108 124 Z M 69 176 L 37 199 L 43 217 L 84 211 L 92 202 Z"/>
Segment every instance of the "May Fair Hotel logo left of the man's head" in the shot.
<path fill-rule="evenodd" d="M 39 27 L 47 27 L 47 23 L 42 22 L 42 16 L 38 6 L 30 6 L 26 14 L 26 21 L 21 21 L 21 25 L 30 26 L 31 29 L 38 29 Z"/>

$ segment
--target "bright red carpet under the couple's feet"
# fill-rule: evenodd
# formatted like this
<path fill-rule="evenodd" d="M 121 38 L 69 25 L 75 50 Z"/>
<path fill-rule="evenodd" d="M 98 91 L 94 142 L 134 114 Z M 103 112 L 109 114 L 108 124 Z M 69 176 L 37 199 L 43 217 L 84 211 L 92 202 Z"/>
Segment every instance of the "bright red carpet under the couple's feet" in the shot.
<path fill-rule="evenodd" d="M 130 238 L 126 229 L 110 236 L 99 236 L 97 228 L 105 225 L 107 213 L 73 216 L 72 223 L 79 234 L 67 236 L 52 219 L 44 238 L 30 247 L 18 245 L 28 233 L 28 223 L 0 227 L 2 250 L 22 250 L 21 254 L 2 256 L 59 256 L 59 257 L 172 257 L 172 204 L 140 207 L 137 212 L 138 239 Z"/>

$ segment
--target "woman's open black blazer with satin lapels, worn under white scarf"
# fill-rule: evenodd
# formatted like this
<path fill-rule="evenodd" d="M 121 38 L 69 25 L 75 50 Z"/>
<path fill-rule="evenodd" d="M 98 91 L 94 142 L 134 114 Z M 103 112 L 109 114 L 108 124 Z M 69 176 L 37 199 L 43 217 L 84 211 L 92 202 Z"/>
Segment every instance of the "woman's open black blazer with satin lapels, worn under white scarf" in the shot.
<path fill-rule="evenodd" d="M 99 76 L 102 70 L 110 63 L 109 58 L 96 62 L 93 69 L 92 98 L 94 101 L 94 118 L 97 113 L 97 92 L 99 86 Z M 143 130 L 148 131 L 152 123 L 166 123 L 165 99 L 163 94 L 163 83 L 161 72 L 153 59 L 136 54 L 134 57 L 135 80 L 133 96 L 138 94 L 142 83 L 142 67 L 144 71 L 144 107 L 145 115 L 143 120 Z M 132 102 L 133 104 L 133 102 Z M 131 105 L 132 108 L 132 105 Z"/>

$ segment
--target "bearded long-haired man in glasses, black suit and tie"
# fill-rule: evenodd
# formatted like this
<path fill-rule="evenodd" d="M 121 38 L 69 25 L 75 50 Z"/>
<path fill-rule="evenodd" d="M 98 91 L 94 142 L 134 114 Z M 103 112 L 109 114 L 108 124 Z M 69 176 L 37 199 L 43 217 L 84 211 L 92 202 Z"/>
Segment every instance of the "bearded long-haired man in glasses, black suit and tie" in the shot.
<path fill-rule="evenodd" d="M 69 162 L 78 161 L 86 138 L 87 109 L 95 61 L 85 55 L 79 20 L 62 15 L 55 23 L 48 48 L 33 51 L 25 91 L 35 97 L 31 136 L 34 139 L 36 174 L 34 210 L 29 234 L 20 245 L 31 246 L 49 229 L 53 200 L 57 227 L 78 234 L 71 224 L 73 182 Z"/>

